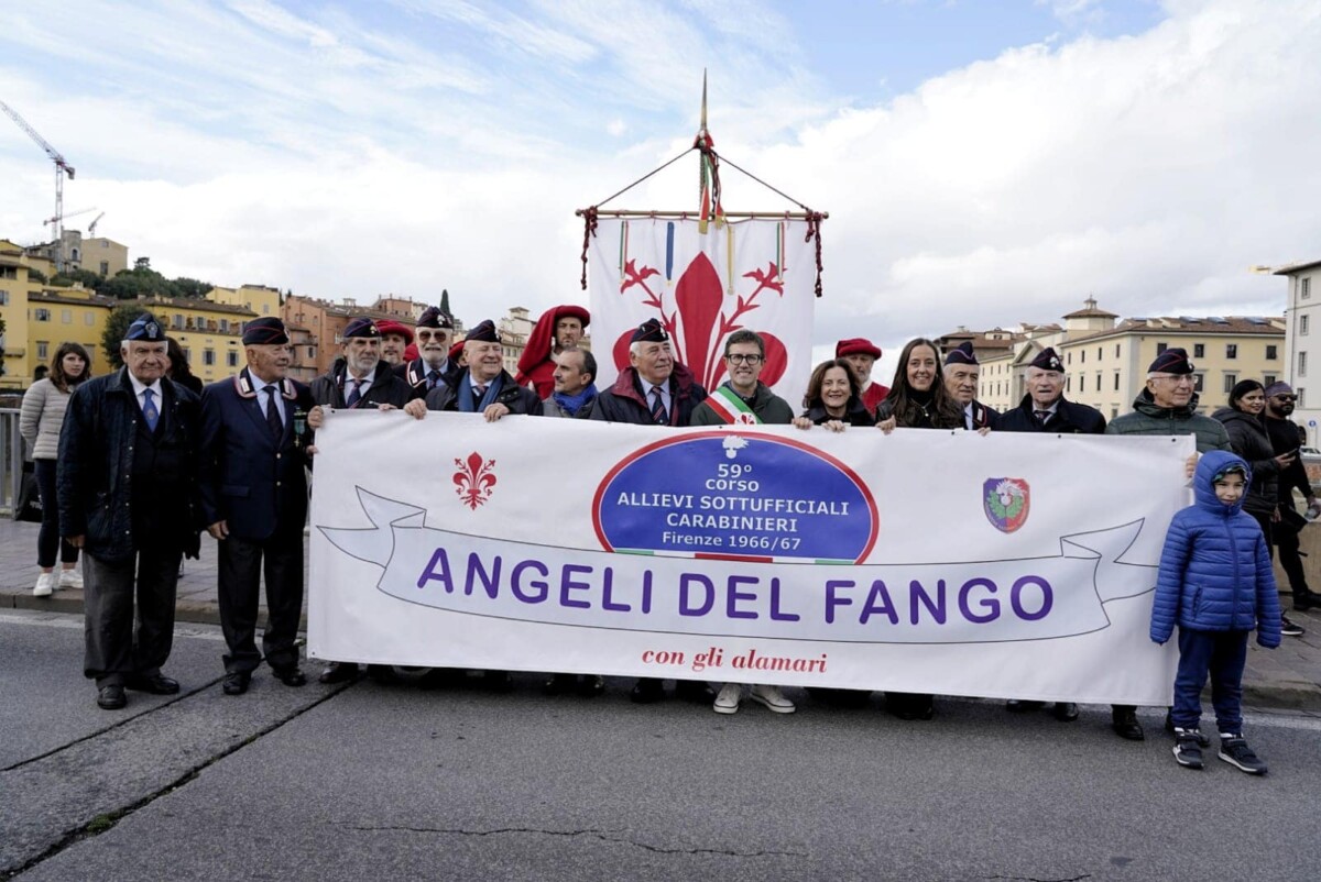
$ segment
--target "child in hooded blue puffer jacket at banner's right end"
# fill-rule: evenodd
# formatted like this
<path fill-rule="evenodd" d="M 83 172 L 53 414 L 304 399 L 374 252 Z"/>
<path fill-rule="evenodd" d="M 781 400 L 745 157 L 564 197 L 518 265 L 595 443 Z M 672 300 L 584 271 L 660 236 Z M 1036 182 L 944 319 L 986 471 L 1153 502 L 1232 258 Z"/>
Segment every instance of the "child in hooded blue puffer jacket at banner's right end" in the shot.
<path fill-rule="evenodd" d="M 1221 730 L 1219 758 L 1250 775 L 1266 763 L 1243 739 L 1243 665 L 1247 635 L 1280 646 L 1280 595 L 1262 527 L 1243 511 L 1252 470 L 1242 457 L 1211 450 L 1197 463 L 1194 504 L 1169 524 L 1160 556 L 1151 635 L 1164 644 L 1178 625 L 1174 676 L 1174 759 L 1202 767 L 1201 693 L 1211 675 L 1211 704 Z"/>

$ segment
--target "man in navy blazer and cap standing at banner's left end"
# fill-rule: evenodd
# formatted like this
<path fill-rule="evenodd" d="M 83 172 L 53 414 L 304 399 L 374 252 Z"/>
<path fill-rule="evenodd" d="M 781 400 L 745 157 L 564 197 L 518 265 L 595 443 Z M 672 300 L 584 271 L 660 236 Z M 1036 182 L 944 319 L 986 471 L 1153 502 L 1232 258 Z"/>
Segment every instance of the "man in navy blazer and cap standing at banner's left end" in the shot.
<path fill-rule="evenodd" d="M 243 349 L 247 367 L 202 392 L 202 514 L 219 541 L 225 693 L 232 696 L 247 692 L 263 655 L 283 684 L 306 683 L 295 642 L 308 515 L 306 445 L 299 429 L 312 393 L 285 376 L 289 337 L 279 318 L 248 322 Z M 267 627 L 258 652 L 263 570 Z"/>

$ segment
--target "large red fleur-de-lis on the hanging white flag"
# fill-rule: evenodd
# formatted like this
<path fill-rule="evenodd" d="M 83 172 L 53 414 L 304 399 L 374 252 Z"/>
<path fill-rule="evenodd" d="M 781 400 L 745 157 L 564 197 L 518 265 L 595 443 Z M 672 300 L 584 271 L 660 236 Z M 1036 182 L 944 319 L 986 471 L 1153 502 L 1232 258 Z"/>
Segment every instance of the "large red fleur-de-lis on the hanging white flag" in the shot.
<path fill-rule="evenodd" d="M 720 273 L 711 264 L 704 254 L 699 254 L 684 269 L 675 285 L 675 305 L 678 309 L 666 314 L 660 297 L 647 285 L 647 279 L 660 275 L 653 267 L 637 268 L 635 261 L 629 260 L 624 268 L 625 280 L 620 285 L 622 294 L 634 285 L 642 288 L 646 294 L 642 297 L 643 306 L 651 306 L 659 313 L 660 323 L 674 338 L 675 356 L 688 366 L 697 382 L 713 390 L 720 386 L 725 374 L 725 362 L 720 358 L 725 338 L 741 330 L 744 326 L 740 318 L 760 308 L 757 296 L 764 290 L 773 290 L 781 297 L 785 296 L 783 268 L 774 261 L 766 264 L 766 269 L 753 269 L 742 275 L 752 279 L 757 288 L 749 294 L 738 294 L 733 310 L 725 313 L 724 287 L 720 283 Z M 629 364 L 629 329 L 614 345 L 616 367 L 624 370 Z M 789 351 L 783 342 L 774 334 L 761 331 L 766 342 L 766 367 L 762 370 L 761 380 L 766 386 L 774 386 L 785 375 L 789 366 Z"/>

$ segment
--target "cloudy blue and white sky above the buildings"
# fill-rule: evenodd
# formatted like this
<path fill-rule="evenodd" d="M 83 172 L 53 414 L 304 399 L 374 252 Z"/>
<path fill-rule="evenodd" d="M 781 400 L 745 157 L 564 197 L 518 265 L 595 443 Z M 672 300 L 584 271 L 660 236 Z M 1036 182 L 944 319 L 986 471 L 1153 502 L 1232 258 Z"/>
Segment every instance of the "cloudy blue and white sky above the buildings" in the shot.
<path fill-rule="evenodd" d="M 820 210 L 815 342 L 1280 313 L 1321 259 L 1321 0 L 0 0 L 66 211 L 174 276 L 585 302 L 581 224 L 691 144 Z M 695 206 L 686 160 L 616 207 Z M 725 207 L 791 207 L 728 170 Z M 0 119 L 0 236 L 53 213 Z M 95 214 L 70 220 L 86 223 Z"/>

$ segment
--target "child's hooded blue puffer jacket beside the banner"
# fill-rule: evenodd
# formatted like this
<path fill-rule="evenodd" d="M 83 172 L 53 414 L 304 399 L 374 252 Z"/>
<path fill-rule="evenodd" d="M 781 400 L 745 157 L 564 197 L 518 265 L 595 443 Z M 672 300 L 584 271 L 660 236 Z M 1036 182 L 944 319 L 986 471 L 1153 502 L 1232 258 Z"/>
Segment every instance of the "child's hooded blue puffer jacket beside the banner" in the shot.
<path fill-rule="evenodd" d="M 1226 506 L 1211 486 L 1211 478 L 1231 463 L 1243 466 L 1251 486 L 1252 470 L 1242 457 L 1211 450 L 1197 463 L 1197 502 L 1169 524 L 1152 607 L 1151 635 L 1157 643 L 1168 640 L 1177 623 L 1194 631 L 1256 627 L 1258 643 L 1280 646 L 1280 595 L 1262 528 L 1242 500 Z"/>

